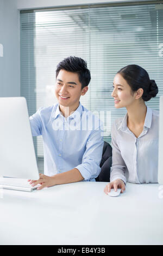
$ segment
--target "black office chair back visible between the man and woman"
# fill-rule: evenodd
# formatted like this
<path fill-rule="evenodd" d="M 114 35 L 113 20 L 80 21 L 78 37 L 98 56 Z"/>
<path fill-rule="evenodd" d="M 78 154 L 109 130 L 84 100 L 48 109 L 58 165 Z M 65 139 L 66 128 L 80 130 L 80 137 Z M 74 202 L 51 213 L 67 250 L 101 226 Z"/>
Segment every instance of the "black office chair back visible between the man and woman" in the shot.
<path fill-rule="evenodd" d="M 104 142 L 102 160 L 100 163 L 101 173 L 96 178 L 96 181 L 110 182 L 110 167 L 112 164 L 112 148 L 108 142 Z"/>

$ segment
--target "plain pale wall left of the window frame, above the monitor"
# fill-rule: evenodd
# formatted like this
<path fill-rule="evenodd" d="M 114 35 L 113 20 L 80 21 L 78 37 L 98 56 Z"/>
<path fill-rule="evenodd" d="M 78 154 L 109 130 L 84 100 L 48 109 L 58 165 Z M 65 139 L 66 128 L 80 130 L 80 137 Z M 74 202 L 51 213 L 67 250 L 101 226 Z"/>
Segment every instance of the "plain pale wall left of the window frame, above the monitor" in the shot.
<path fill-rule="evenodd" d="M 18 16 L 17 0 L 0 0 L 0 44 L 3 45 L 3 57 L 0 57 L 1 97 L 20 96 Z"/>

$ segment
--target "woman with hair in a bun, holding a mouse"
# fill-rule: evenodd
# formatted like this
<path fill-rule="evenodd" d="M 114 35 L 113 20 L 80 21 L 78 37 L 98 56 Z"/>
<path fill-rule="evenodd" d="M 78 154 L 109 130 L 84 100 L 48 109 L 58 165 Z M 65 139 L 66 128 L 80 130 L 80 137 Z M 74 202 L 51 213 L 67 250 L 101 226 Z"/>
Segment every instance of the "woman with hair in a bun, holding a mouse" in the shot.
<path fill-rule="evenodd" d="M 116 108 L 126 107 L 127 114 L 117 119 L 111 129 L 111 188 L 121 193 L 126 182 L 158 182 L 159 112 L 146 106 L 158 93 L 154 80 L 138 65 L 128 65 L 117 72 L 113 92 Z"/>

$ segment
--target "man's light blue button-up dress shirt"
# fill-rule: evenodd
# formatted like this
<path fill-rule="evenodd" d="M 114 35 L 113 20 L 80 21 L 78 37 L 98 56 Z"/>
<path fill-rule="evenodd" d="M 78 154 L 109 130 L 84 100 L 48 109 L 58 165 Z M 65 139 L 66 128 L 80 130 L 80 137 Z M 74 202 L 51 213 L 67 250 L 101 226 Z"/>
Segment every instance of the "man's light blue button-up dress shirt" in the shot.
<path fill-rule="evenodd" d="M 95 115 L 79 104 L 65 118 L 57 104 L 40 108 L 29 119 L 32 135 L 43 138 L 45 175 L 77 168 L 84 180 L 95 181 L 104 144 L 103 124 Z"/>

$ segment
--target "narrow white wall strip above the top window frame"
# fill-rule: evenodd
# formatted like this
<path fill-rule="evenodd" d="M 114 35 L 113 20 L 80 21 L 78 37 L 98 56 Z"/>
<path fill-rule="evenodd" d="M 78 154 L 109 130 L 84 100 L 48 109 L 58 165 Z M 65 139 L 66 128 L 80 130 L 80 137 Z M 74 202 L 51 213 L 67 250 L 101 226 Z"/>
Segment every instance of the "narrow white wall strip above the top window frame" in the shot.
<path fill-rule="evenodd" d="M 116 2 L 142 2 L 148 0 L 17 0 L 18 9 L 33 9 L 33 8 L 46 8 L 57 7 L 66 5 L 78 4 L 93 4 L 93 3 L 116 3 Z"/>

